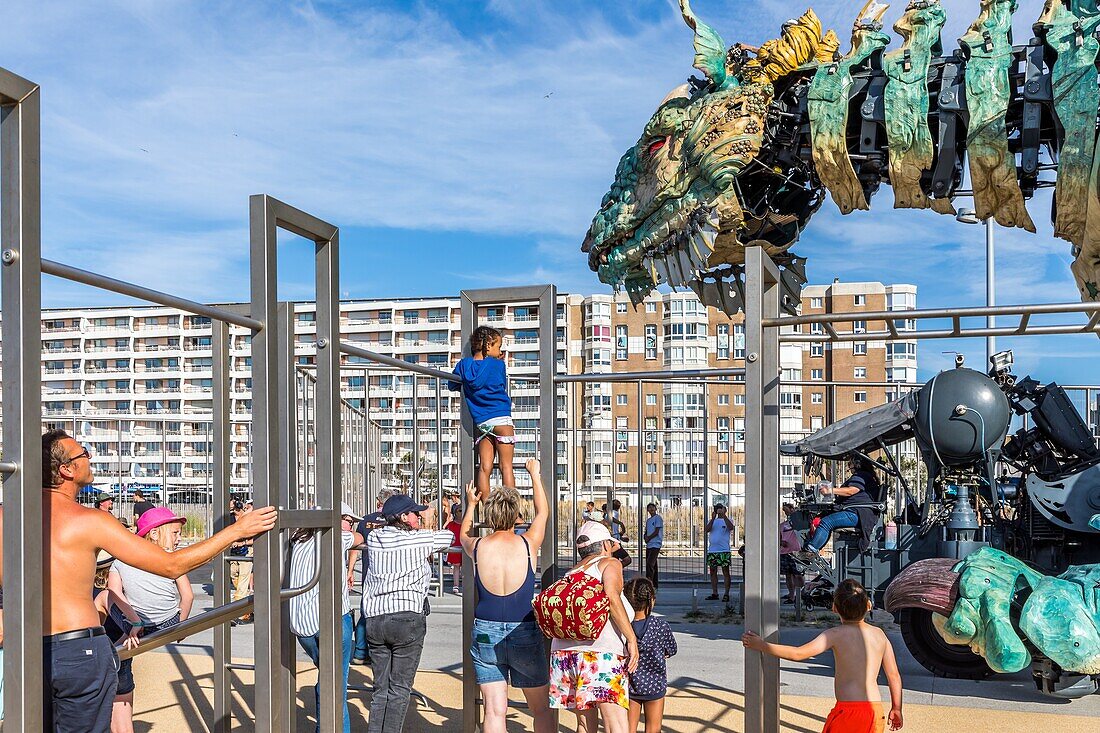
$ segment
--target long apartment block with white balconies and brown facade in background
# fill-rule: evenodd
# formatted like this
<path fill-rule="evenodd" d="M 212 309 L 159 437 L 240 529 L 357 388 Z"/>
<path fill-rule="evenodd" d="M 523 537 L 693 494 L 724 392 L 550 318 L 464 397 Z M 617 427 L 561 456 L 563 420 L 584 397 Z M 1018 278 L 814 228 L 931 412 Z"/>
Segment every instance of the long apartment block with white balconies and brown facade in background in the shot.
<path fill-rule="evenodd" d="M 809 286 L 803 313 L 905 310 L 912 285 Z M 315 358 L 316 307 L 294 304 L 295 357 Z M 562 384 L 538 383 L 536 305 L 482 306 L 479 320 L 505 335 L 517 430 L 517 460 L 541 439 L 539 401 L 554 394 L 558 484 L 569 494 L 605 495 L 641 488 L 645 496 L 738 501 L 744 495 L 745 392 L 739 378 Z M 612 373 L 743 366 L 744 316 L 729 318 L 691 293 L 654 294 L 638 308 L 624 296 L 560 295 L 552 315 L 559 372 Z M 899 330 L 911 321 L 895 320 Z M 881 330 L 879 322 L 855 328 Z M 231 477 L 250 484 L 250 336 L 231 327 Z M 449 370 L 462 351 L 458 298 L 341 303 L 341 336 L 372 351 Z M 43 311 L 44 416 L 74 430 L 94 453 L 102 488 L 162 485 L 202 490 L 210 482 L 212 352 L 210 321 L 162 307 Z M 833 348 L 833 347 L 836 348 Z M 796 438 L 897 392 L 881 383 L 916 379 L 916 342 L 794 343 L 781 351 L 782 424 Z M 816 383 L 821 383 L 817 386 Z M 862 386 L 862 384 L 867 386 Z M 458 483 L 458 393 L 435 380 L 342 358 L 341 393 L 381 427 L 378 474 L 430 490 Z M 437 404 L 438 394 L 438 404 Z M 305 397 L 302 397 L 305 400 Z M 299 407 L 300 415 L 308 407 Z M 437 414 L 439 423 L 437 426 Z M 308 461 L 309 441 L 305 441 Z M 781 468 L 783 482 L 801 466 Z M 519 472 L 517 480 L 526 479 Z"/>

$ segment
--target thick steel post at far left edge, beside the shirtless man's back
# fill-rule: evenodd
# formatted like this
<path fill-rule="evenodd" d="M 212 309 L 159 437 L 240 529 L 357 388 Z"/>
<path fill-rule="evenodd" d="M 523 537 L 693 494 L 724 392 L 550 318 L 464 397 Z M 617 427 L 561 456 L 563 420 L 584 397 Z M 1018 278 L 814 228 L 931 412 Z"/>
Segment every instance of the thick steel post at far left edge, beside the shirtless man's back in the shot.
<path fill-rule="evenodd" d="M 42 211 L 38 87 L 0 69 L 4 724 L 43 730 Z M 30 551 L 24 551 L 30 550 Z"/>

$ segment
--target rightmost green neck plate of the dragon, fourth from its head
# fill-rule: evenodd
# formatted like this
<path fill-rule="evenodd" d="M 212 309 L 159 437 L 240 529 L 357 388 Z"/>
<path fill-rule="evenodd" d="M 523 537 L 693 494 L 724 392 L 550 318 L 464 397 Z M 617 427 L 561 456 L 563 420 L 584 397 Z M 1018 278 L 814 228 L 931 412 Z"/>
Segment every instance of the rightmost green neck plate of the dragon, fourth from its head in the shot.
<path fill-rule="evenodd" d="M 1057 54 L 1050 79 L 1054 106 L 1058 119 L 1065 121 L 1063 127 L 1066 131 L 1065 143 L 1058 154 L 1054 233 L 1071 242 L 1080 242 L 1085 234 L 1096 132 L 1091 125 L 1067 122 L 1089 120 L 1100 107 L 1100 87 L 1096 84 L 1100 41 L 1094 35 L 1100 28 L 1100 11 L 1096 0 L 1075 0 L 1071 9 L 1066 8 L 1062 0 L 1047 0 L 1037 25 L 1045 26 L 1044 42 Z"/>

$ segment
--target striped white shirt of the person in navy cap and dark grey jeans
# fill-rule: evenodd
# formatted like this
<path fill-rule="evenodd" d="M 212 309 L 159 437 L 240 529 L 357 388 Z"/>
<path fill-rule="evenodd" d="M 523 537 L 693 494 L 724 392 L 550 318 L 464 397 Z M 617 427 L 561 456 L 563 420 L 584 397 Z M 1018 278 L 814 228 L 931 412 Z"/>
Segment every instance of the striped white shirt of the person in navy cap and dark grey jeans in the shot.
<path fill-rule="evenodd" d="M 381 527 L 366 536 L 363 615 L 424 611 L 431 566 L 428 556 L 454 540 L 449 529 Z"/>

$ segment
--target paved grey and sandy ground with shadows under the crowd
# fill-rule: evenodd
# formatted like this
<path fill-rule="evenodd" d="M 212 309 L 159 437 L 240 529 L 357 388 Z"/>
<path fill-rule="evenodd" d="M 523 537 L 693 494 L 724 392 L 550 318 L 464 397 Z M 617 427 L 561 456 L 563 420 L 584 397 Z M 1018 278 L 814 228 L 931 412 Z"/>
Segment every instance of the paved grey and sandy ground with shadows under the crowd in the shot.
<path fill-rule="evenodd" d="M 708 589 L 698 589 L 702 599 Z M 691 623 L 683 614 L 692 609 L 692 589 L 662 589 L 666 599 L 660 611 L 668 615 L 675 632 L 680 653 L 669 660 L 670 688 L 675 692 L 669 701 L 668 731 L 696 732 L 708 730 L 741 730 L 744 690 L 744 650 L 736 639 L 741 627 L 732 624 Z M 197 612 L 209 606 L 204 587 L 196 586 Z M 718 602 L 695 603 L 703 610 L 718 611 Z M 448 594 L 432 599 L 428 639 L 421 661 L 422 672 L 417 689 L 430 701 L 430 709 L 419 709 L 416 723 L 408 730 L 429 730 L 442 725 L 457 730 L 461 718 L 461 605 L 460 599 Z M 233 630 L 234 657 L 251 659 L 253 627 Z M 787 628 L 785 643 L 799 644 L 811 638 L 813 628 Z M 909 716 L 906 729 L 916 731 L 1022 731 L 1027 727 L 1056 726 L 1066 731 L 1096 731 L 1100 719 L 1100 694 L 1072 702 L 1054 700 L 1040 694 L 1026 672 L 1002 676 L 982 682 L 937 679 L 921 667 L 905 649 L 898 633 L 891 633 L 905 683 Z M 202 634 L 163 652 L 139 657 L 139 720 L 163 723 L 156 730 L 204 730 L 209 721 L 211 637 Z M 299 653 L 304 686 L 310 682 L 310 665 Z M 145 674 L 148 669 L 148 674 Z M 353 667 L 353 683 L 369 683 L 364 668 Z M 187 679 L 185 675 L 191 675 Z M 251 681 L 248 672 L 242 683 Z M 185 681 L 186 680 L 186 681 Z M 241 689 L 246 689 L 242 685 Z M 821 730 L 824 714 L 832 705 L 832 659 L 824 657 L 803 664 L 783 663 L 781 693 L 784 707 L 784 730 Z M 886 696 L 886 688 L 883 688 Z M 312 708 L 312 694 L 304 689 L 299 701 Z M 355 704 L 363 704 L 361 699 Z M 302 704 L 306 704 L 304 702 Z M 251 702 L 241 698 L 238 715 L 246 715 Z M 206 713 L 206 714 L 204 714 Z M 305 715 L 305 708 L 299 709 Z M 353 713 L 354 714 L 354 713 Z M 978 718 L 976 718 L 976 715 Z M 1090 721 L 1091 719 L 1091 721 Z M 305 721 L 305 719 L 302 718 Z M 512 730 L 526 730 L 521 711 L 515 713 Z M 139 733 L 147 727 L 138 726 Z M 308 730 L 308 729 L 302 729 Z"/>

